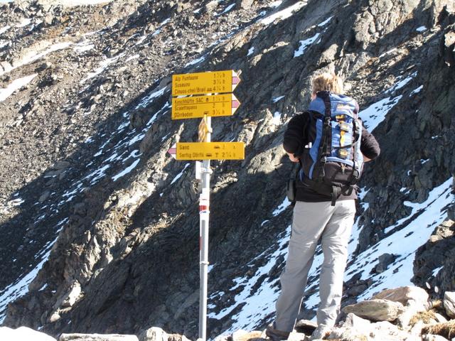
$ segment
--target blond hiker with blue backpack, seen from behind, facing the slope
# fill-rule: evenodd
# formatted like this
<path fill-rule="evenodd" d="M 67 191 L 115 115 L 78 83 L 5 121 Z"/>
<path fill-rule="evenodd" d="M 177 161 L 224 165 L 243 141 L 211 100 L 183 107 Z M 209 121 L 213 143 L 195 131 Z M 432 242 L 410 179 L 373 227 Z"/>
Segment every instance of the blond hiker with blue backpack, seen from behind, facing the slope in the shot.
<path fill-rule="evenodd" d="M 289 251 L 280 277 L 282 292 L 276 319 L 266 330 L 273 341 L 287 340 L 294 329 L 319 239 L 324 256 L 319 278 L 321 302 L 316 313 L 318 327 L 310 340 L 321 339 L 336 323 L 355 216 L 355 183 L 363 162 L 380 153 L 378 142 L 356 119 L 357 114 L 357 102 L 343 95 L 341 78 L 323 73 L 312 80 L 309 110 L 296 114 L 284 133 L 284 150 L 301 169 L 296 178 Z"/>

